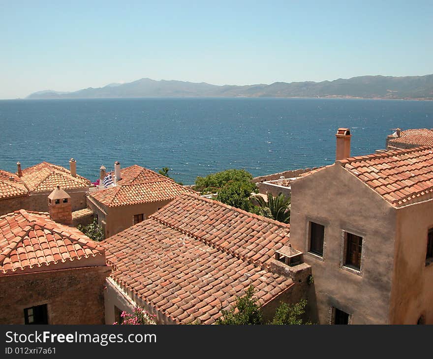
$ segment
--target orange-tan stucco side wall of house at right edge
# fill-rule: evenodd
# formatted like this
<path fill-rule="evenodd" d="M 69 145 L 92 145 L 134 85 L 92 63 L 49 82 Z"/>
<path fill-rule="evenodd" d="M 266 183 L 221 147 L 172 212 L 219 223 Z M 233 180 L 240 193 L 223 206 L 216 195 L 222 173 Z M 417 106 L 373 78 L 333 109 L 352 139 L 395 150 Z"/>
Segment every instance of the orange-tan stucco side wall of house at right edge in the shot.
<path fill-rule="evenodd" d="M 433 200 L 397 210 L 396 259 L 390 321 L 433 324 L 433 263 L 426 266 L 427 232 L 433 228 Z"/>

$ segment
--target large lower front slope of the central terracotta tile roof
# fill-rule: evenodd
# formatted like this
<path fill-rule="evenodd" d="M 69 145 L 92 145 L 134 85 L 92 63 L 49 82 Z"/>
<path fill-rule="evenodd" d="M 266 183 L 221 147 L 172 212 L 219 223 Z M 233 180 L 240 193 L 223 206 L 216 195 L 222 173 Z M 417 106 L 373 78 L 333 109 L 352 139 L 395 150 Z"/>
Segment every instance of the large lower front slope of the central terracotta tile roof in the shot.
<path fill-rule="evenodd" d="M 187 197 L 183 196 L 184 199 Z M 201 200 L 196 202 L 198 218 L 205 215 L 205 209 L 200 207 Z M 174 211 L 173 216 L 181 217 L 182 204 L 179 213 L 175 211 L 176 206 L 169 207 Z M 226 214 L 246 219 L 233 209 L 231 212 Z M 186 220 L 191 214 L 186 214 Z M 198 225 L 197 234 L 204 228 L 203 222 Z M 224 232 L 237 242 L 239 228 L 227 225 Z M 268 237 L 272 237 L 272 233 Z M 257 238 L 251 236 L 251 246 L 254 246 L 253 239 Z M 293 285 L 290 279 L 249 264 L 228 250 L 192 238 L 155 218 L 130 227 L 101 244 L 106 248 L 107 262 L 113 268 L 111 277 L 175 323 L 192 323 L 197 319 L 202 324 L 214 323 L 221 315 L 221 306 L 228 309 L 234 305 L 249 285 L 257 290 L 255 296 L 260 304 L 274 299 Z"/>

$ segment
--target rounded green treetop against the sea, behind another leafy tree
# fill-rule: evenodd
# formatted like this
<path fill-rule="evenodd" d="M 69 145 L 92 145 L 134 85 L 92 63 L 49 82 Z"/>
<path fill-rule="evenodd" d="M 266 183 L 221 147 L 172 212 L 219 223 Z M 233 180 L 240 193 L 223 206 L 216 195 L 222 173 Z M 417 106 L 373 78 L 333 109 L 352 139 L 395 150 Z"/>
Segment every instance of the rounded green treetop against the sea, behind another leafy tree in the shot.
<path fill-rule="evenodd" d="M 202 194 L 219 192 L 229 183 L 244 183 L 249 188 L 249 193 L 256 192 L 256 185 L 252 181 L 252 175 L 245 170 L 225 170 L 217 173 L 212 173 L 206 177 L 197 177 L 195 179 L 196 191 Z"/>

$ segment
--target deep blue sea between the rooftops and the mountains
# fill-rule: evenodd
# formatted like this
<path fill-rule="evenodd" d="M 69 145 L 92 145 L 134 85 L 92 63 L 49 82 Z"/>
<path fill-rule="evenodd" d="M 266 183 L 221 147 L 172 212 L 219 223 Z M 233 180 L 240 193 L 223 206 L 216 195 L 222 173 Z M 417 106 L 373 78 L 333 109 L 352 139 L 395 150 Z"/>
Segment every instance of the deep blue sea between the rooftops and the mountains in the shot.
<path fill-rule="evenodd" d="M 352 155 L 383 149 L 391 128 L 432 128 L 433 101 L 281 98 L 1 100 L 0 169 L 41 161 L 96 179 L 99 167 L 167 166 L 192 184 L 228 168 L 254 176 L 330 164 L 338 127 Z"/>

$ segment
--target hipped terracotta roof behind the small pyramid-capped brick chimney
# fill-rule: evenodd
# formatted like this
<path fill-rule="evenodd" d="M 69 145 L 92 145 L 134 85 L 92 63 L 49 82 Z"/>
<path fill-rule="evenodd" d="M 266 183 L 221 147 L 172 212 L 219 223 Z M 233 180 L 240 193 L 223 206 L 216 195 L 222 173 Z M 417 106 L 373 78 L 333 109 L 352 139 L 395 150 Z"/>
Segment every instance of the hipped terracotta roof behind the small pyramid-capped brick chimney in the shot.
<path fill-rule="evenodd" d="M 52 191 L 57 186 L 63 189 L 85 188 L 91 185 L 89 179 L 72 177 L 69 170 L 52 163 L 42 162 L 24 169 L 22 181 L 31 192 Z"/>

